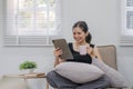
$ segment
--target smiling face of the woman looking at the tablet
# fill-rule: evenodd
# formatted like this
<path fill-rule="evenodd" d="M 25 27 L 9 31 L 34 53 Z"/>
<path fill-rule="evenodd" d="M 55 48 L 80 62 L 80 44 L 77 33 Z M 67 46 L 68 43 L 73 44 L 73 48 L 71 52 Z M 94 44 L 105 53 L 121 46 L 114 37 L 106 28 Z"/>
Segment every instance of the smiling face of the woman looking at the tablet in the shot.
<path fill-rule="evenodd" d="M 88 32 L 85 33 L 81 28 L 73 28 L 73 38 L 76 42 L 84 43 L 86 34 Z"/>

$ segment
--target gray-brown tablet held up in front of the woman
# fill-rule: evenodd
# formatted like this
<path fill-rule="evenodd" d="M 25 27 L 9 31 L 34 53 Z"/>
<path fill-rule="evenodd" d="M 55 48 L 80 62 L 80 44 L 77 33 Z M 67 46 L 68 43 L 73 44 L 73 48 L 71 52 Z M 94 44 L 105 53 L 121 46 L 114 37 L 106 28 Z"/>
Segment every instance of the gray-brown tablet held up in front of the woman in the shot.
<path fill-rule="evenodd" d="M 61 55 L 61 59 L 73 59 L 72 52 L 66 43 L 65 39 L 53 39 L 52 40 L 55 48 L 62 49 L 63 53 Z"/>

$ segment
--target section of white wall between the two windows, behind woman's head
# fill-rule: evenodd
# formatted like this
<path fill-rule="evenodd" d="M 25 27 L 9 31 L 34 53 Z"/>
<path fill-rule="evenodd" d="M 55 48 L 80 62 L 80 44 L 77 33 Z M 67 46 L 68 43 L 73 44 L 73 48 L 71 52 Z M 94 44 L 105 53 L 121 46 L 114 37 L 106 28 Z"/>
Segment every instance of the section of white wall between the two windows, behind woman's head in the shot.
<path fill-rule="evenodd" d="M 119 0 L 63 0 L 63 26 L 68 39 L 71 38 L 69 33 L 72 24 L 78 20 L 85 20 L 95 43 L 117 43 L 119 17 Z"/>

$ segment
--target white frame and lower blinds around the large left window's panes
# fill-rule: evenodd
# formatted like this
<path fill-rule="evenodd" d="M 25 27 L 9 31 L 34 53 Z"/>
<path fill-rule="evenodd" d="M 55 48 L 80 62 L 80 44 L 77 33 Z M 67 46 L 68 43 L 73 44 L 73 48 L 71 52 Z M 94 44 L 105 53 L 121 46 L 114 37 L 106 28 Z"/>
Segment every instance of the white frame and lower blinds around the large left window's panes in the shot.
<path fill-rule="evenodd" d="M 3 46 L 4 47 L 45 47 L 45 46 L 53 46 L 52 44 L 52 39 L 58 39 L 61 38 L 61 0 L 58 0 L 58 9 L 59 9 L 59 16 L 58 18 L 60 19 L 59 26 L 58 26 L 58 34 L 57 36 L 8 36 L 7 34 L 7 0 L 3 0 L 3 9 L 2 9 L 2 13 L 3 13 Z M 57 23 L 58 23 L 57 22 Z"/>

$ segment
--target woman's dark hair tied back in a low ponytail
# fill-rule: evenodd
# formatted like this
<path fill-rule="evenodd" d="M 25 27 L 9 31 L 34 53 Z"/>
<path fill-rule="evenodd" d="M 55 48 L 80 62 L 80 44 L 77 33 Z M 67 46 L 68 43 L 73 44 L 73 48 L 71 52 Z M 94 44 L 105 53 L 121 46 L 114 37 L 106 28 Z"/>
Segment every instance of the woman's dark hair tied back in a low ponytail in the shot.
<path fill-rule="evenodd" d="M 78 21 L 76 23 L 74 23 L 74 26 L 72 27 L 72 29 L 74 29 L 74 28 L 76 28 L 76 27 L 81 28 L 84 33 L 86 33 L 88 30 L 89 30 L 89 27 L 88 27 L 88 24 L 86 24 L 85 21 Z M 91 36 L 91 33 L 89 32 L 89 34 L 85 37 L 85 41 L 86 41 L 88 43 L 91 43 L 91 39 L 92 39 L 92 36 Z"/>

